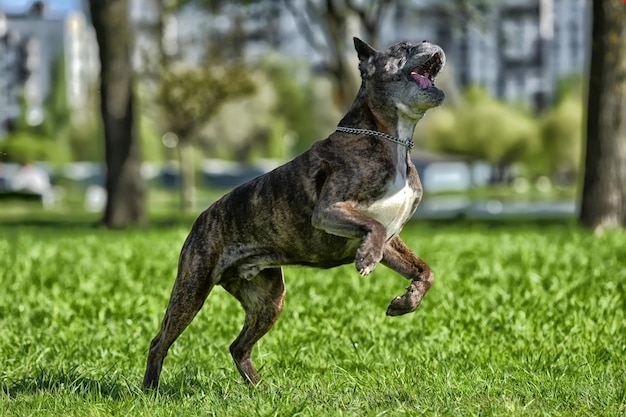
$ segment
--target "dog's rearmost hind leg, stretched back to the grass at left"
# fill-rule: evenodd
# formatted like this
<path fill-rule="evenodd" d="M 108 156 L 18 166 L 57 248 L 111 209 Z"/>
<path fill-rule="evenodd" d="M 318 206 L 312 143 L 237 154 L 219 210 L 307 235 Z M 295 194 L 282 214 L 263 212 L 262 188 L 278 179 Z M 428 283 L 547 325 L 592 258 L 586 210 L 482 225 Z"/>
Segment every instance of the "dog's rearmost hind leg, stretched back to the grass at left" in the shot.
<path fill-rule="evenodd" d="M 200 311 L 204 300 L 214 286 L 207 267 L 206 254 L 195 250 L 194 245 L 188 243 L 190 242 L 185 244 L 181 252 L 178 276 L 174 282 L 161 329 L 150 344 L 143 379 L 145 388 L 158 387 L 163 360 L 168 349 Z"/>

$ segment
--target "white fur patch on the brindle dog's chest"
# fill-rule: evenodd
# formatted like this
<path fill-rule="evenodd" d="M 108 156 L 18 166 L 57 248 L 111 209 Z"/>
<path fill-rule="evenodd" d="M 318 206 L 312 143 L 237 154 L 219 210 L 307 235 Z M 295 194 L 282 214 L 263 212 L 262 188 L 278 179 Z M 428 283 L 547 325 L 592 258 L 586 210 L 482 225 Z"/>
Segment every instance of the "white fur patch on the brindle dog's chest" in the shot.
<path fill-rule="evenodd" d="M 363 210 L 363 214 L 382 223 L 389 239 L 400 233 L 409 220 L 415 200 L 421 197 L 419 194 L 409 186 L 406 177 L 398 173 L 385 195 Z"/>

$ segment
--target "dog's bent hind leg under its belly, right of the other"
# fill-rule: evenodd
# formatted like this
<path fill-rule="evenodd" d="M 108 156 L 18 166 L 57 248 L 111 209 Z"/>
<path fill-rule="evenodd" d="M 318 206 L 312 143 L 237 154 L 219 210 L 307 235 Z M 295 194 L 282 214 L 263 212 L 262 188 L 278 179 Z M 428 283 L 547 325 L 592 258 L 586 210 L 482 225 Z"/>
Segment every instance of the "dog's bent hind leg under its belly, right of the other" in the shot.
<path fill-rule="evenodd" d="M 250 385 L 258 385 L 261 378 L 250 357 L 256 342 L 272 328 L 283 309 L 283 271 L 281 268 L 263 269 L 252 280 L 233 279 L 222 285 L 246 312 L 243 329 L 230 345 L 230 353 L 243 379 Z"/>

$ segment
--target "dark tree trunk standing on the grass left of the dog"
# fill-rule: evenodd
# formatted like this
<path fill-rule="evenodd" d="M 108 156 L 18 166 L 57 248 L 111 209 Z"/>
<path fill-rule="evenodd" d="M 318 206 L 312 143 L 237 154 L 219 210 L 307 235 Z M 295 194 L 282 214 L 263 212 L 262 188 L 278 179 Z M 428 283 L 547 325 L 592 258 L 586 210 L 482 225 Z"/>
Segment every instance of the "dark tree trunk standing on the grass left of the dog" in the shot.
<path fill-rule="evenodd" d="M 144 224 L 146 190 L 133 114 L 133 70 L 127 0 L 91 0 L 100 47 L 100 104 L 104 125 L 107 203 L 111 228 Z"/>

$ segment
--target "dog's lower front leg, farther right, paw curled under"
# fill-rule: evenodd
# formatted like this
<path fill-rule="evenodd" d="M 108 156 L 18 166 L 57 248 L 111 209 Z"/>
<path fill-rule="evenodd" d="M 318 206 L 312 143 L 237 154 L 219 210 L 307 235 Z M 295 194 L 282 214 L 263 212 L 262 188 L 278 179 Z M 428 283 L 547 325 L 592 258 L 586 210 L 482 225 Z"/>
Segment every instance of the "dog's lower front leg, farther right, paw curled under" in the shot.
<path fill-rule="evenodd" d="M 433 283 L 432 269 L 399 236 L 393 237 L 385 245 L 382 263 L 411 280 L 406 294 L 396 297 L 389 304 L 387 315 L 400 316 L 415 311 Z"/>

